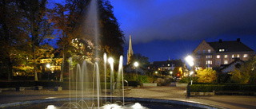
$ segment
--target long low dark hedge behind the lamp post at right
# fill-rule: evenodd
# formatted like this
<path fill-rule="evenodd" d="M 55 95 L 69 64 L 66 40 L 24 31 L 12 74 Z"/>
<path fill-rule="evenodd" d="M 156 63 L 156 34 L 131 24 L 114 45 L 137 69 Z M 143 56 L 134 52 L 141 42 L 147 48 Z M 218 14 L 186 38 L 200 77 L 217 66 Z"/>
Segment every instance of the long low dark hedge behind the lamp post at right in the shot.
<path fill-rule="evenodd" d="M 212 92 L 212 91 L 256 91 L 256 85 L 251 84 L 193 84 L 190 91 Z"/>

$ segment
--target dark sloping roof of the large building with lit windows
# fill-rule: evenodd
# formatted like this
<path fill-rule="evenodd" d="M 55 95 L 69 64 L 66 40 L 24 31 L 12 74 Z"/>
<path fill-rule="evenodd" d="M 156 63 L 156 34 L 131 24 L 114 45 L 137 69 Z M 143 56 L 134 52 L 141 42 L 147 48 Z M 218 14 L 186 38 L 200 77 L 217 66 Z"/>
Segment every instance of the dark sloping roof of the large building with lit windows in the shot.
<path fill-rule="evenodd" d="M 215 41 L 207 42 L 217 53 L 218 49 L 225 49 L 226 52 L 248 52 L 254 51 L 241 41 Z"/>

